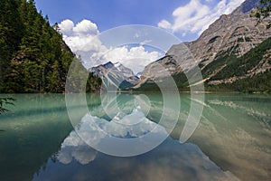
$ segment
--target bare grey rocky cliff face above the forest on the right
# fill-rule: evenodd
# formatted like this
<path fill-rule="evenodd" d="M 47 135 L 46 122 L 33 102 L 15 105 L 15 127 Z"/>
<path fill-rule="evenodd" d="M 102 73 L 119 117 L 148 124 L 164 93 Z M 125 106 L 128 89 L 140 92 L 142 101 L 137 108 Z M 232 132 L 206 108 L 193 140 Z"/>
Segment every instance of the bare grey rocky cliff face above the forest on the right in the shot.
<path fill-rule="evenodd" d="M 189 71 L 194 65 L 199 64 L 201 71 L 205 72 L 203 73 L 204 81 L 208 81 L 216 73 L 223 71 L 227 66 L 225 63 L 218 63 L 220 65 L 212 67 L 209 71 L 206 69 L 210 69 L 208 65 L 211 62 L 220 61 L 223 57 L 241 57 L 271 37 L 271 29 L 266 29 L 266 24 L 270 19 L 257 24 L 257 20 L 250 17 L 251 10 L 257 5 L 259 5 L 259 0 L 247 0 L 231 14 L 221 15 L 220 19 L 210 24 L 198 40 L 173 45 L 164 58 L 145 67 L 136 88 L 155 77 L 161 77 L 157 70 L 157 63 L 164 66 L 165 70 L 169 70 L 172 75 Z M 187 47 L 184 48 L 184 44 Z M 263 66 L 266 64 L 264 63 Z M 223 83 L 223 81 L 217 82 Z"/>

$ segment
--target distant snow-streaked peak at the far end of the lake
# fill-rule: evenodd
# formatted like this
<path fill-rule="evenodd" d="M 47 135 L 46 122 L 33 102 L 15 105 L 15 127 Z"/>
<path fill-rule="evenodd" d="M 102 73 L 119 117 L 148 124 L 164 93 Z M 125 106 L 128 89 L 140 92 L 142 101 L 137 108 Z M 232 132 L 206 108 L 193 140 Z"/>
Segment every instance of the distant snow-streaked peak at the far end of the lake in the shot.
<path fill-rule="evenodd" d="M 105 90 L 126 90 L 135 86 L 139 81 L 139 78 L 132 70 L 119 62 L 115 64 L 107 62 L 97 67 L 92 67 L 89 71 L 93 72 L 94 75 L 98 75 L 103 81 L 103 89 Z"/>

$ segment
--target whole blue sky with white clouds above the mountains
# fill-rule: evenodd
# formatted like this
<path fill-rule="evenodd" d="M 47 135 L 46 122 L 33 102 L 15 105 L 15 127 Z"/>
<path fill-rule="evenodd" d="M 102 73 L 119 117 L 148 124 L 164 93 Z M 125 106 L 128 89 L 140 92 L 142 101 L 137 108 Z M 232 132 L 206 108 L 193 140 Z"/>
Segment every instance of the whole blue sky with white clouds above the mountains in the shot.
<path fill-rule="evenodd" d="M 140 44 L 133 48 L 106 47 L 93 38 L 117 26 L 145 24 L 173 33 L 181 42 L 192 41 L 221 14 L 230 14 L 242 2 L 244 0 L 36 0 L 36 6 L 43 15 L 49 16 L 51 24 L 60 25 L 64 41 L 72 52 L 82 57 L 85 66 L 114 60 L 137 72 L 164 54 L 150 52 Z"/>

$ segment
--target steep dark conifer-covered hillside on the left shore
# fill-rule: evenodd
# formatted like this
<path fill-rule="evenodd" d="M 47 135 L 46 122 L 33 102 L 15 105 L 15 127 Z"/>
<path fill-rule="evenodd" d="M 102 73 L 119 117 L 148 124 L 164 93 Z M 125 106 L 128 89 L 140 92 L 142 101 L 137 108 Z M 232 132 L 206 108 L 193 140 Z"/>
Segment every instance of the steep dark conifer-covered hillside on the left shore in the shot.
<path fill-rule="evenodd" d="M 34 0 L 0 1 L 0 93 L 64 92 L 74 58 Z M 98 77 L 89 82 L 88 90 L 99 90 Z"/>

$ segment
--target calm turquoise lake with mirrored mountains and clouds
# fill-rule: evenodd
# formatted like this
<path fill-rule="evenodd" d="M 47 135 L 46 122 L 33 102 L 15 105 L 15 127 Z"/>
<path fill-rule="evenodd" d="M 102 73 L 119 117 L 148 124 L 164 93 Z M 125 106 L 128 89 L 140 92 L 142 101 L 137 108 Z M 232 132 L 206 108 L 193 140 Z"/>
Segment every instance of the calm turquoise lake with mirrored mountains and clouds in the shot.
<path fill-rule="evenodd" d="M 271 178 L 270 95 L 181 93 L 165 108 L 158 93 L 88 94 L 86 109 L 74 94 L 69 114 L 62 94 L 6 96 L 16 101 L 0 115 L 0 180 Z M 182 143 L 192 102 L 203 112 Z"/>

